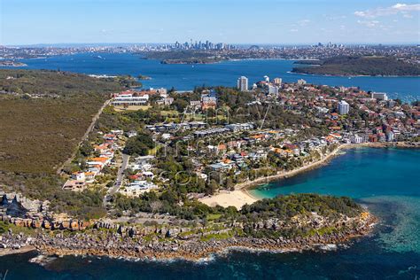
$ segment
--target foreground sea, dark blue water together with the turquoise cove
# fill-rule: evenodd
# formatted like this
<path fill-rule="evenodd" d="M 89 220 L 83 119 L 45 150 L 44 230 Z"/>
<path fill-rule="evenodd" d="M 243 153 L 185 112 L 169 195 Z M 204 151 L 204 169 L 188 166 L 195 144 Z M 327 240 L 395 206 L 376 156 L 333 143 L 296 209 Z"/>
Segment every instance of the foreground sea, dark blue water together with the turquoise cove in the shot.
<path fill-rule="evenodd" d="M 45 267 L 35 253 L 0 257 L 7 279 L 417 279 L 420 276 L 420 151 L 362 148 L 252 191 L 261 197 L 346 195 L 379 217 L 374 232 L 336 251 L 233 252 L 210 261 L 123 261 L 64 257 Z"/>

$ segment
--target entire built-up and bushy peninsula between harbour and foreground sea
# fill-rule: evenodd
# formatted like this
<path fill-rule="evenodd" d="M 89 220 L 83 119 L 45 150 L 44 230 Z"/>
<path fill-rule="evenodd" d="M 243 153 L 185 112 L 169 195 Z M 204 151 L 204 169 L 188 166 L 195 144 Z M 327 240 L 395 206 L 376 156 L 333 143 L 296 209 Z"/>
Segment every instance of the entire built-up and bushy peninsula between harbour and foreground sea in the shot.
<path fill-rule="evenodd" d="M 358 88 L 276 78 L 250 90 L 240 77 L 237 89 L 178 93 L 133 89 L 129 76 L 0 77 L 3 253 L 197 260 L 340 244 L 376 222 L 351 198 L 220 196 L 316 167 L 343 145 L 419 140 L 418 102 Z"/>

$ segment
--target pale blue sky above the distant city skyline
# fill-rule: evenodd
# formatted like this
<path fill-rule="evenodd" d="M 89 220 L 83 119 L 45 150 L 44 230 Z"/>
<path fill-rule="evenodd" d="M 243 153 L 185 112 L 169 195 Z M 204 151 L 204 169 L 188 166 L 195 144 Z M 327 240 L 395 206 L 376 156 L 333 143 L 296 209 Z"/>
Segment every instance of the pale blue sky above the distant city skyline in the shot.
<path fill-rule="evenodd" d="M 420 1 L 0 0 L 0 44 L 420 43 Z"/>

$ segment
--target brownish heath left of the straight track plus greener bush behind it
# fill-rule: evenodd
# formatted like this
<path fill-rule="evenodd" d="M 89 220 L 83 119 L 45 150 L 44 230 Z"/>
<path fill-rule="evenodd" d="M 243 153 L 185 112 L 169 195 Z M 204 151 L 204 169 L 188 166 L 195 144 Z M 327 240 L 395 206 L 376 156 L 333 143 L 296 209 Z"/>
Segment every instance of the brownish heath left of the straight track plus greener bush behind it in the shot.
<path fill-rule="evenodd" d="M 6 77 L 9 77 L 7 79 Z M 10 78 L 12 77 L 12 78 Z M 0 170 L 53 174 L 119 82 L 52 71 L 0 70 Z"/>

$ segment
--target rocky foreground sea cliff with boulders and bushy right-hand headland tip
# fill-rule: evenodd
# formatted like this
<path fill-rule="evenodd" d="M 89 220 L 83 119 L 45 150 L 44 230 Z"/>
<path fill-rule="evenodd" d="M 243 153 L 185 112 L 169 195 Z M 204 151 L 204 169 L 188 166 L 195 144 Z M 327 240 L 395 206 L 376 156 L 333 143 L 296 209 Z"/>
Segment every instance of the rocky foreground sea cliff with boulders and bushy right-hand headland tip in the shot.
<path fill-rule="evenodd" d="M 35 249 L 48 255 L 199 260 L 237 248 L 288 252 L 340 244 L 368 234 L 377 221 L 350 198 L 311 194 L 264 199 L 217 222 L 75 222 L 63 217 L 46 227 L 45 221 L 20 222 L 3 214 L 0 253 Z"/>

